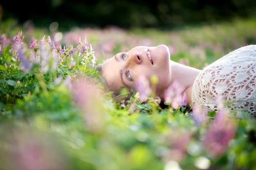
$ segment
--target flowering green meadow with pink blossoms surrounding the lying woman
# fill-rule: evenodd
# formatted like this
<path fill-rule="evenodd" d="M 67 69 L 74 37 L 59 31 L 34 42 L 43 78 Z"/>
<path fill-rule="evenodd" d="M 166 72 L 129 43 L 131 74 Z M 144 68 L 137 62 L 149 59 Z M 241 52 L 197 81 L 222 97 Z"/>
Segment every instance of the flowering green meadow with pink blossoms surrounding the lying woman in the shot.
<path fill-rule="evenodd" d="M 203 69 L 256 44 L 256 19 L 68 32 L 9 20 L 0 33 L 0 169 L 256 170 L 256 122 L 247 112 L 164 109 L 135 93 L 121 106 L 93 67 L 134 46 L 166 44 L 171 60 Z"/>

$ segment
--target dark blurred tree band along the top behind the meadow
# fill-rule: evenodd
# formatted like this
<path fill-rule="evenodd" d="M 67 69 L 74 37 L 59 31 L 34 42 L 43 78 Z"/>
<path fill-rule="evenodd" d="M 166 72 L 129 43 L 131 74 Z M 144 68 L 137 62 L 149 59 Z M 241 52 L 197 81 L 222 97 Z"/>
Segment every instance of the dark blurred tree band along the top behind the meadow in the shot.
<path fill-rule="evenodd" d="M 72 26 L 172 28 L 256 16 L 256 0 L 5 0 L 2 20 Z"/>

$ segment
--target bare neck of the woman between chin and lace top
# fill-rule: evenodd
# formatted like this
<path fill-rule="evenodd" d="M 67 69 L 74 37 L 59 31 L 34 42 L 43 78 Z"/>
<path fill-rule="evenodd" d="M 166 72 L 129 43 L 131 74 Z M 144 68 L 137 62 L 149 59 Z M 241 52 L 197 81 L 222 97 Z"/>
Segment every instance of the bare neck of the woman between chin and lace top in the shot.
<path fill-rule="evenodd" d="M 186 93 L 186 97 L 188 99 L 187 107 L 192 103 L 192 86 L 194 84 L 195 78 L 201 72 L 199 69 L 195 69 L 190 66 L 185 66 L 183 64 L 171 61 L 170 64 L 170 76 L 171 76 L 171 85 L 173 82 L 177 81 L 182 84 L 185 88 L 184 92 Z M 159 95 L 161 101 L 164 100 L 164 93 Z"/>

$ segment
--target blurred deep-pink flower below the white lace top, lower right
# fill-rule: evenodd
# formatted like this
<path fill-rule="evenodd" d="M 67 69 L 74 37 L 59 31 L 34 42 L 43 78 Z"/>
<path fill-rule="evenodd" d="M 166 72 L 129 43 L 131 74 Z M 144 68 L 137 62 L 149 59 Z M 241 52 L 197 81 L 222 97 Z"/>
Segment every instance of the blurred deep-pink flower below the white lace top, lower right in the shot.
<path fill-rule="evenodd" d="M 228 117 L 223 110 L 219 111 L 203 139 L 206 151 L 213 157 L 221 156 L 234 137 L 236 129 L 236 121 Z"/>

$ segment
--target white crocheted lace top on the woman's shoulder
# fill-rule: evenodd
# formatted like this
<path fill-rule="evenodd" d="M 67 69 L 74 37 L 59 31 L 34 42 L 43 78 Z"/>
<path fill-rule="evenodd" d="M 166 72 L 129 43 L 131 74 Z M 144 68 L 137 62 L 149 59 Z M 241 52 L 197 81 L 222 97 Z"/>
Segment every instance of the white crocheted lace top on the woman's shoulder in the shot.
<path fill-rule="evenodd" d="M 192 102 L 218 111 L 218 97 L 224 111 L 247 110 L 256 115 L 256 45 L 244 46 L 205 67 L 192 87 Z M 237 115 L 239 116 L 239 115 Z"/>

